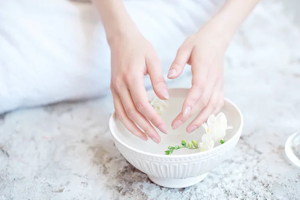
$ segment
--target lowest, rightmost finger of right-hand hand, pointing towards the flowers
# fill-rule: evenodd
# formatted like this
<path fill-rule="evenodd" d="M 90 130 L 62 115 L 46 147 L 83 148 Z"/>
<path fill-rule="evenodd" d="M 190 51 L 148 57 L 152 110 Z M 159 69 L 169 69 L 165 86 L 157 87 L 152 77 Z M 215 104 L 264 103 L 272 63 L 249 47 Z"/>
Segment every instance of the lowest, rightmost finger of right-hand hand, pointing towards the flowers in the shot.
<path fill-rule="evenodd" d="M 218 107 L 219 102 L 219 91 L 220 91 L 220 81 L 217 81 L 215 88 L 211 94 L 209 102 L 207 106 L 205 106 L 200 113 L 187 125 L 186 131 L 188 133 L 194 131 L 198 128 L 207 118 L 208 116 Z"/>

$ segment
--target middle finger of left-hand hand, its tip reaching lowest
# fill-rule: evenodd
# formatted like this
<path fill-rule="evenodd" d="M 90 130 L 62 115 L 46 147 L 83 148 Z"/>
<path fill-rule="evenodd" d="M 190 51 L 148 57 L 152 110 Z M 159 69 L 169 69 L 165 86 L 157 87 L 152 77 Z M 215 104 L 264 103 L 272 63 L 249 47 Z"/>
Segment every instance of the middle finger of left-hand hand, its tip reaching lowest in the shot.
<path fill-rule="evenodd" d="M 118 90 L 124 110 L 129 119 L 138 125 L 155 143 L 160 142 L 160 136 L 150 122 L 136 109 L 128 89 Z"/>

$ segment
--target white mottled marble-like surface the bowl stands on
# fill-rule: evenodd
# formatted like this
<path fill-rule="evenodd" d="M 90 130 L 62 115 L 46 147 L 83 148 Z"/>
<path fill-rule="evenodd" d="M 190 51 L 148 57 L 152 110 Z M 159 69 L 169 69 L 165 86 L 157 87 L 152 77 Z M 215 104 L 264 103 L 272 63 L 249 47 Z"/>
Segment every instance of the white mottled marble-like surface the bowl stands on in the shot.
<path fill-rule="evenodd" d="M 300 169 L 283 149 L 300 130 L 300 28 L 282 13 L 280 2 L 261 3 L 227 51 L 226 97 L 244 129 L 202 182 L 163 188 L 126 162 L 106 96 L 1 115 L 0 199 L 300 199 Z M 190 73 L 168 85 L 188 87 Z"/>

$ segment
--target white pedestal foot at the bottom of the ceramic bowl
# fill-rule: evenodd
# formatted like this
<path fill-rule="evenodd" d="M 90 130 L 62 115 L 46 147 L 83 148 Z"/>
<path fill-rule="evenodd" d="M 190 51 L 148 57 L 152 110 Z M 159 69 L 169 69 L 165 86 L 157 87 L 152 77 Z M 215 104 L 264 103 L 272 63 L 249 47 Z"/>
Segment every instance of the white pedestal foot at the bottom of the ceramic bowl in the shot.
<path fill-rule="evenodd" d="M 188 186 L 194 185 L 194 184 L 202 181 L 206 177 L 207 173 L 204 173 L 202 175 L 195 176 L 195 177 L 182 178 L 182 179 L 178 179 L 178 178 L 169 178 L 169 179 L 156 178 L 156 177 L 151 176 L 151 175 L 148 175 L 148 177 L 152 182 L 154 182 L 155 184 L 158 184 L 160 186 L 163 186 L 163 187 L 182 188 L 182 187 L 188 187 Z"/>

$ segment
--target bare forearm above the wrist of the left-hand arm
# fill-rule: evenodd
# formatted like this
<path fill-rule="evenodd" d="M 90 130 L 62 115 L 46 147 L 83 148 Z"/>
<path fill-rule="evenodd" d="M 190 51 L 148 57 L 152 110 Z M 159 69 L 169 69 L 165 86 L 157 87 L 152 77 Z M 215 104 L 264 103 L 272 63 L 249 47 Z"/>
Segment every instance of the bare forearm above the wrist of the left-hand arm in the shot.
<path fill-rule="evenodd" d="M 100 14 L 109 45 L 117 38 L 137 31 L 122 0 L 93 0 Z"/>

